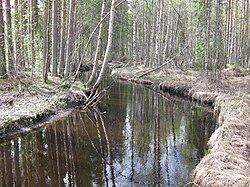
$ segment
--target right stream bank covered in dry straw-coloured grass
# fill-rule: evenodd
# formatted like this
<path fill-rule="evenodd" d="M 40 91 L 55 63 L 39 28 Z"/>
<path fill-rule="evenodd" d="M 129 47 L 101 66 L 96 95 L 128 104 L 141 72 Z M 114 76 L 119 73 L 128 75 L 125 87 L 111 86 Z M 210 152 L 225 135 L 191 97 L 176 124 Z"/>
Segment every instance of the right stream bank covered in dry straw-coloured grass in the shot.
<path fill-rule="evenodd" d="M 112 76 L 159 87 L 164 92 L 211 105 L 219 128 L 208 141 L 209 153 L 195 167 L 191 186 L 250 186 L 250 76 L 210 82 L 198 72 L 150 70 L 142 66 L 115 69 Z"/>

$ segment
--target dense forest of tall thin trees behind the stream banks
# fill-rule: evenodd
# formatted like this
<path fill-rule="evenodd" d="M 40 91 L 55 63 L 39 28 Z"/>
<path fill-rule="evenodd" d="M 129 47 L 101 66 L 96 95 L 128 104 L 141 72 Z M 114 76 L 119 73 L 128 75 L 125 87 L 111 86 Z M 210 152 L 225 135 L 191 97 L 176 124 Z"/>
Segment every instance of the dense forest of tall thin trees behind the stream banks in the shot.
<path fill-rule="evenodd" d="M 227 66 L 249 68 L 249 0 L 128 0 L 113 3 L 108 61 L 177 68 L 219 78 Z M 108 43 L 107 0 L 1 0 L 0 76 L 32 71 L 68 77 L 102 61 Z"/>

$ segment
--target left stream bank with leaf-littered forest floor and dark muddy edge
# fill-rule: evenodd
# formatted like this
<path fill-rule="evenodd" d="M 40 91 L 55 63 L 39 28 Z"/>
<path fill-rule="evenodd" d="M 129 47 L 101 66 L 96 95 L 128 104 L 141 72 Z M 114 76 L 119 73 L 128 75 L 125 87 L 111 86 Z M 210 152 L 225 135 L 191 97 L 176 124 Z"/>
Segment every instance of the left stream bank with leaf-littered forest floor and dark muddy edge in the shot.
<path fill-rule="evenodd" d="M 71 86 L 52 76 L 44 83 L 41 76 L 30 72 L 15 79 L 0 79 L 0 140 L 29 132 L 53 116 L 81 105 L 81 86 L 80 82 Z"/>

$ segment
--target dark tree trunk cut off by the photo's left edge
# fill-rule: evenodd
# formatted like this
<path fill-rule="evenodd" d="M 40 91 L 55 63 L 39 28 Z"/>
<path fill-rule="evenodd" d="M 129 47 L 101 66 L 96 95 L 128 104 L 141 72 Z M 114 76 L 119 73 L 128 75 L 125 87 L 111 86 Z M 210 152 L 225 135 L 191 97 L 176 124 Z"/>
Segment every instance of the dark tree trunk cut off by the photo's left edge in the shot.
<path fill-rule="evenodd" d="M 0 0 L 0 76 L 6 76 L 6 58 L 4 43 L 3 2 Z"/>

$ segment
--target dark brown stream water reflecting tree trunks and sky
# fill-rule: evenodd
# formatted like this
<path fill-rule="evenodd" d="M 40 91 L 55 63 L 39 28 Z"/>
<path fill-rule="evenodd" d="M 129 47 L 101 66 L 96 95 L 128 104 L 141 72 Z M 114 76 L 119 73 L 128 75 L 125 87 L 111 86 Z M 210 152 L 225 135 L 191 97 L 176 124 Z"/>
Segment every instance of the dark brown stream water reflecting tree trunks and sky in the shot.
<path fill-rule="evenodd" d="M 185 186 L 215 128 L 208 111 L 131 84 L 100 111 L 2 143 L 0 186 Z"/>

